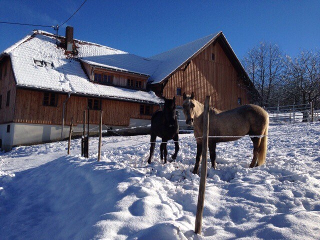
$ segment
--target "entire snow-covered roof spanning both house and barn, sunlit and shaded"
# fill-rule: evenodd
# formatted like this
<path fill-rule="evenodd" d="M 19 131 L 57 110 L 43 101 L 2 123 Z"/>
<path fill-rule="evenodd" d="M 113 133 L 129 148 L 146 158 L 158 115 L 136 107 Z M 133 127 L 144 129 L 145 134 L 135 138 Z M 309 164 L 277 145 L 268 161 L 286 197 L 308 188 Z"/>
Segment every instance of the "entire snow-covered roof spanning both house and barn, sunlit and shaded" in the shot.
<path fill-rule="evenodd" d="M 220 33 L 210 34 L 151 57 L 141 57 L 108 46 L 75 39 L 77 54 L 70 57 L 66 56 L 63 48 L 56 46 L 54 34 L 35 30 L 2 53 L 10 54 L 18 85 L 158 102 L 159 98 L 145 91 L 90 82 L 81 68 L 80 61 L 94 66 L 146 75 L 149 77 L 148 81 L 154 84 L 170 76 Z M 54 67 L 37 66 L 34 60 L 52 62 Z"/>

